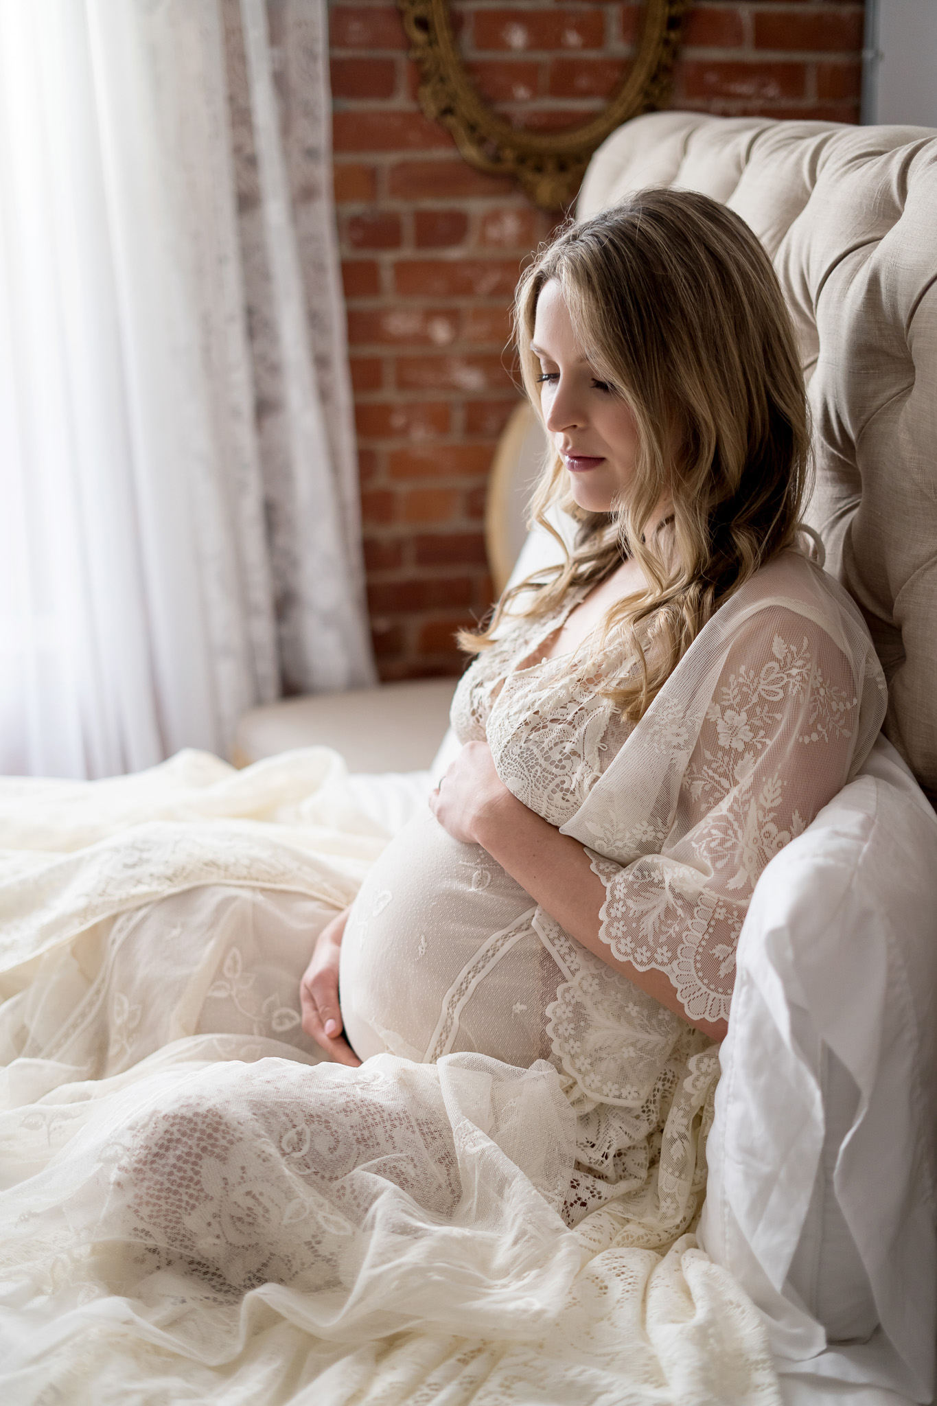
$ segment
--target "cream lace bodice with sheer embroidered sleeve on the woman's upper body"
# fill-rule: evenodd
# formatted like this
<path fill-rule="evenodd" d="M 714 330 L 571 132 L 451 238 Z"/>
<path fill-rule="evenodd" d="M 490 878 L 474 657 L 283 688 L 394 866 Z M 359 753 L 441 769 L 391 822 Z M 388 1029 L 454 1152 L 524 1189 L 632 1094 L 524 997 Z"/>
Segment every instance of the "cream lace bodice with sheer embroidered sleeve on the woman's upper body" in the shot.
<path fill-rule="evenodd" d="M 785 553 L 704 628 L 635 728 L 607 696 L 614 641 L 537 661 L 579 602 L 514 620 L 459 683 L 459 741 L 487 737 L 507 787 L 580 838 L 605 886 L 601 939 L 666 972 L 690 1019 L 728 1018 L 754 884 L 854 773 L 885 685 L 853 603 Z M 600 785 L 601 782 L 601 785 Z"/>

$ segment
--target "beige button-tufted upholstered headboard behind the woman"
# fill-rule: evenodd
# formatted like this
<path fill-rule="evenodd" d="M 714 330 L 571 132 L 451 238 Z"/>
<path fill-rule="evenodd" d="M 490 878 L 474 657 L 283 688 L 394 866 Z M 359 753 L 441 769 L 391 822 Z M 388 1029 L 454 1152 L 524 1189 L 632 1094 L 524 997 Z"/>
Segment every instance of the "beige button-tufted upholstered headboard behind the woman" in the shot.
<path fill-rule="evenodd" d="M 937 794 L 937 131 L 652 112 L 591 159 L 579 217 L 643 186 L 735 209 L 774 260 L 813 415 L 808 520 L 865 614 L 885 731 Z"/>

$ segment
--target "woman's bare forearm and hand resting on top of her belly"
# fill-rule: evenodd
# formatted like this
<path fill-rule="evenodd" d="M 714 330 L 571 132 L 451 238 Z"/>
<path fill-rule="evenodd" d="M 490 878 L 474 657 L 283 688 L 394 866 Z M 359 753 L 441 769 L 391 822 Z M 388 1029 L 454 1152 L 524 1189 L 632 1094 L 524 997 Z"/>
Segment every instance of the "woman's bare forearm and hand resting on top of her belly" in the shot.
<path fill-rule="evenodd" d="M 482 845 L 577 942 L 607 966 L 660 1001 L 681 1019 L 687 1012 L 663 972 L 639 972 L 620 962 L 601 941 L 598 912 L 605 887 L 577 839 L 561 832 L 513 796 L 494 770 L 486 742 L 469 742 L 445 773 L 430 806 L 440 824 L 464 844 Z M 725 1021 L 691 1021 L 715 1040 Z"/>

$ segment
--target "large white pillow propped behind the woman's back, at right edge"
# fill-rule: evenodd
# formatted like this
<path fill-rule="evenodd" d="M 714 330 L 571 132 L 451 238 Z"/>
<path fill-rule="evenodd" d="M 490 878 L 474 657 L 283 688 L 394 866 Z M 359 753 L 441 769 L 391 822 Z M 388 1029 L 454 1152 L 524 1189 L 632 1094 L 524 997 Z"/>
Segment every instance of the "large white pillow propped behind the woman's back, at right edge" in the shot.
<path fill-rule="evenodd" d="M 919 1402 L 937 1330 L 936 914 L 937 817 L 879 738 L 756 887 L 700 1226 L 780 1365 L 820 1371 L 827 1340 L 881 1323 L 861 1371 Z"/>

